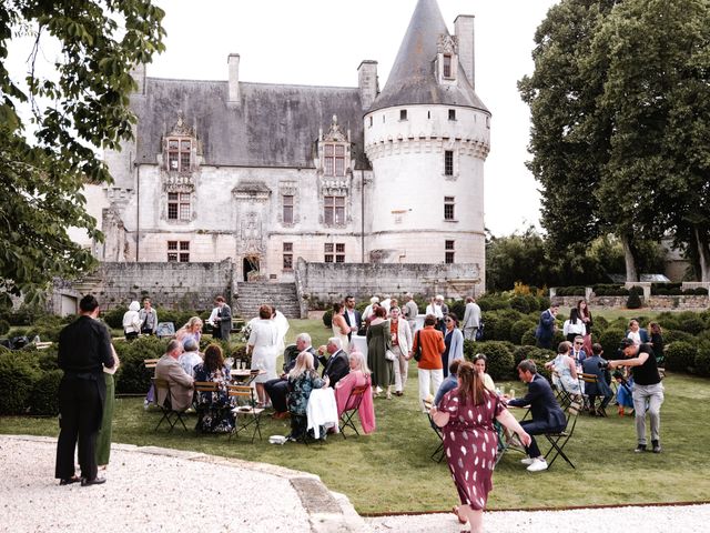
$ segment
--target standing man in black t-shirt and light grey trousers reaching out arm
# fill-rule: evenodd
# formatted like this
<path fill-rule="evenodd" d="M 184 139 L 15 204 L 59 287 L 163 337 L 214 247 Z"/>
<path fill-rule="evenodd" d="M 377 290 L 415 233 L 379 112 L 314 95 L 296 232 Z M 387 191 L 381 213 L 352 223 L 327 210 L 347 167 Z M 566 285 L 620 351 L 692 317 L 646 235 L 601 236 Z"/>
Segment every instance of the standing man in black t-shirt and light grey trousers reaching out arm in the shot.
<path fill-rule="evenodd" d="M 635 344 L 628 336 L 621 341 L 621 352 L 626 359 L 609 361 L 609 369 L 630 366 L 633 374 L 633 410 L 636 412 L 636 436 L 638 446 L 635 452 L 646 451 L 646 405 L 651 422 L 651 445 L 653 453 L 661 453 L 660 426 L 663 384 L 656 365 L 656 355 L 649 344 Z"/>

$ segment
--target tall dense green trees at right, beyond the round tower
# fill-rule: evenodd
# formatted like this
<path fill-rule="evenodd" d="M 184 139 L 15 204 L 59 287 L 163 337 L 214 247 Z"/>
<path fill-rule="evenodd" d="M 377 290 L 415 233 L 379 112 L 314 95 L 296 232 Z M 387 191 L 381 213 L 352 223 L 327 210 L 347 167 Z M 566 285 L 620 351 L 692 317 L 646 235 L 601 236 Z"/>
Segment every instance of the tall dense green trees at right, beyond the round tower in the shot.
<path fill-rule="evenodd" d="M 552 244 L 673 231 L 710 279 L 710 2 L 562 0 L 536 33 L 530 169 Z"/>

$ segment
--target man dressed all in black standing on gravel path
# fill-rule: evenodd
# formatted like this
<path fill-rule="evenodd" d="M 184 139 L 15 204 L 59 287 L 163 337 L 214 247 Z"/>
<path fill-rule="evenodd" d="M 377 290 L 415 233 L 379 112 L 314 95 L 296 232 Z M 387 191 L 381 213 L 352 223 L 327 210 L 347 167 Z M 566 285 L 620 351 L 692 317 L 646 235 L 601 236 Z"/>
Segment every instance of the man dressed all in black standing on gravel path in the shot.
<path fill-rule="evenodd" d="M 85 295 L 79 309 L 79 319 L 59 334 L 59 368 L 64 375 L 59 385 L 60 433 L 54 477 L 60 480 L 60 485 L 80 481 L 74 475 L 78 443 L 81 486 L 87 486 L 106 481 L 98 477 L 95 443 L 106 394 L 103 366 L 113 368 L 114 359 L 109 330 L 97 320 L 97 299 Z"/>

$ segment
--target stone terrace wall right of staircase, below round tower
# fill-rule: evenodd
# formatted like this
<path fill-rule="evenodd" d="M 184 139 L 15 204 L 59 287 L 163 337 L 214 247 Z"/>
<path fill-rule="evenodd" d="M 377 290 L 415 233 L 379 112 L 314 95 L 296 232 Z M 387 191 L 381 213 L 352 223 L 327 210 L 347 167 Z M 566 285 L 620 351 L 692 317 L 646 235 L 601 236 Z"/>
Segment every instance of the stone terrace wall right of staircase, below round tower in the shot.
<path fill-rule="evenodd" d="M 300 259 L 296 269 L 298 289 L 311 309 L 347 294 L 362 301 L 374 294 L 464 298 L 483 292 L 474 264 L 306 263 Z"/>

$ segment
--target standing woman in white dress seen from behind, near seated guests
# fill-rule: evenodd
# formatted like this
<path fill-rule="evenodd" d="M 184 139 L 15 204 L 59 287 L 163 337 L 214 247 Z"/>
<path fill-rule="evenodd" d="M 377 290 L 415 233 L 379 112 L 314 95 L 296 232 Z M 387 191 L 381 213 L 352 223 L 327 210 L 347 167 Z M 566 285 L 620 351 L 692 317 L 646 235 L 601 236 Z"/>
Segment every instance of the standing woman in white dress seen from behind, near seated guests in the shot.
<path fill-rule="evenodd" d="M 256 395 L 260 406 L 268 405 L 270 399 L 264 389 L 264 383 L 276 379 L 276 348 L 278 343 L 278 330 L 271 320 L 271 306 L 258 308 L 258 320 L 252 323 L 252 333 L 248 335 L 246 353 L 252 353 L 252 370 L 265 370 L 265 374 L 257 375 Z"/>

